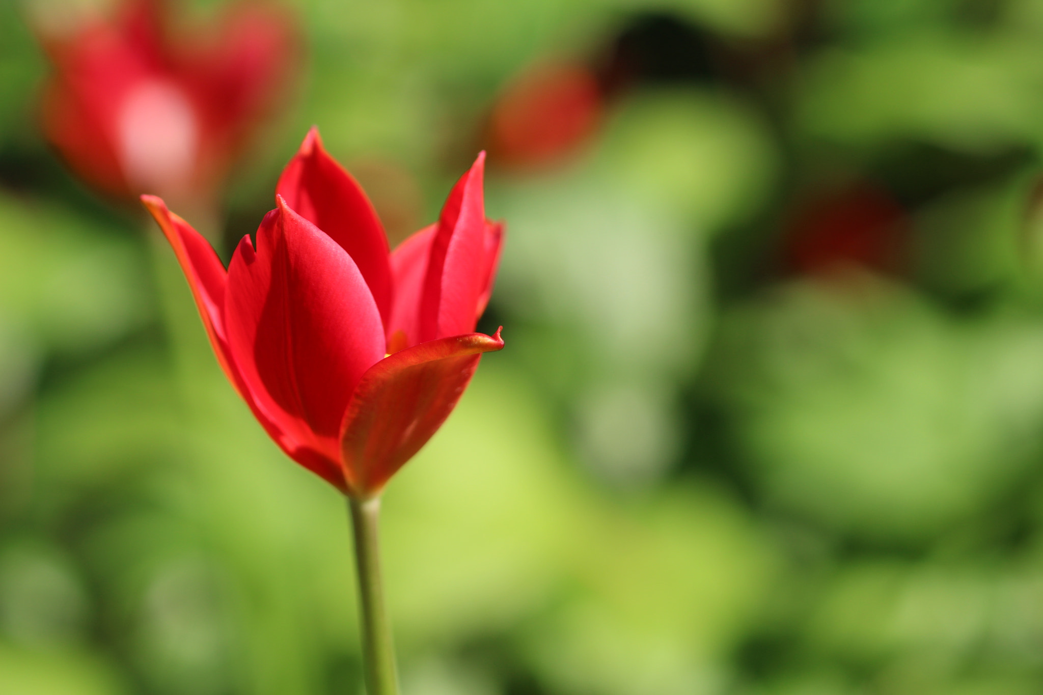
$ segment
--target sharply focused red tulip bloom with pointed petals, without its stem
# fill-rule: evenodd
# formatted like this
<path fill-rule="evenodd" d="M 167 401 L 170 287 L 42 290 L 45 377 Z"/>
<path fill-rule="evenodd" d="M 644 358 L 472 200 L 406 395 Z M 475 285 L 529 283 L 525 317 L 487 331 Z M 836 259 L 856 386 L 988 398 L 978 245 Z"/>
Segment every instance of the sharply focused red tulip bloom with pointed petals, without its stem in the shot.
<path fill-rule="evenodd" d="M 500 331 L 476 333 L 503 225 L 485 219 L 484 154 L 438 222 L 388 251 L 365 193 L 313 129 L 283 171 L 257 246 L 225 272 L 154 196 L 218 362 L 271 438 L 345 494 L 371 497 L 441 426 Z"/>

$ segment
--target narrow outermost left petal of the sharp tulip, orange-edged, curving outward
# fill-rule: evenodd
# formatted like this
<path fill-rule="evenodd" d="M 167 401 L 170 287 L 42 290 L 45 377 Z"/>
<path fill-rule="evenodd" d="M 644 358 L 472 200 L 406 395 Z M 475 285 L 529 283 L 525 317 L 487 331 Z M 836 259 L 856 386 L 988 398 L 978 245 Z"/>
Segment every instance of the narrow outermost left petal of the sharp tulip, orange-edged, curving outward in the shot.
<path fill-rule="evenodd" d="M 337 488 L 344 491 L 344 479 L 336 460 L 321 456 L 308 447 L 308 438 L 287 430 L 275 424 L 269 415 L 272 408 L 264 407 L 243 379 L 239 368 L 232 359 L 228 349 L 227 333 L 224 327 L 224 299 L 227 292 L 227 275 L 217 253 L 205 239 L 193 229 L 185 220 L 171 213 L 166 203 L 155 196 L 142 196 L 142 203 L 166 235 L 174 249 L 177 262 L 185 272 L 192 296 L 195 298 L 199 316 L 217 362 L 239 395 L 246 401 L 253 417 L 258 419 L 268 436 L 271 437 L 286 453 L 306 468 L 317 473 Z M 262 394 L 263 396 L 264 394 Z M 304 442 L 301 441 L 304 439 Z"/>

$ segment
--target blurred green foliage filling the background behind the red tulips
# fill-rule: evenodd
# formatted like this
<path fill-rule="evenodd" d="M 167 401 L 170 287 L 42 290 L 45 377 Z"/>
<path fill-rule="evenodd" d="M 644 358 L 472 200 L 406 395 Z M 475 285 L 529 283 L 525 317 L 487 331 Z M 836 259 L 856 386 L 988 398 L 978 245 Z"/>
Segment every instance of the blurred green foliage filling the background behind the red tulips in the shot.
<path fill-rule="evenodd" d="M 313 123 L 418 228 L 529 66 L 604 86 L 554 166 L 490 150 L 507 349 L 385 503 L 407 695 L 1039 690 L 1040 3 L 290 6 L 305 70 L 225 257 Z M 225 382 L 155 230 L 43 143 L 26 16 L 0 4 L 0 692 L 359 693 L 343 501 Z"/>

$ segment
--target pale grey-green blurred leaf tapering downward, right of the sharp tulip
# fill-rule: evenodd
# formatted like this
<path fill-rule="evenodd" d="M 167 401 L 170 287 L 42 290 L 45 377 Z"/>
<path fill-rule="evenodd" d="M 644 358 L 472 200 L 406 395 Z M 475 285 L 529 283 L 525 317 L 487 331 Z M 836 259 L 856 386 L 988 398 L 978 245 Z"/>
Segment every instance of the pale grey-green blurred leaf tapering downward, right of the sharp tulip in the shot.
<path fill-rule="evenodd" d="M 490 192 L 510 220 L 496 296 L 526 322 L 518 359 L 576 414 L 585 463 L 648 483 L 677 452 L 671 409 L 703 351 L 708 278 L 676 215 L 593 169 Z"/>

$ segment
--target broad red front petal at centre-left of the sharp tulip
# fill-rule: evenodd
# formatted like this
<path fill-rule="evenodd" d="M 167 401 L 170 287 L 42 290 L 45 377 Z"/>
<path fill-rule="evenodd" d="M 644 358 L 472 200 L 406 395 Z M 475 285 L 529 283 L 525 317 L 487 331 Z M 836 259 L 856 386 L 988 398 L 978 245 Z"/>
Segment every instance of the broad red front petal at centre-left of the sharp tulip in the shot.
<path fill-rule="evenodd" d="M 384 327 L 351 257 L 278 198 L 228 266 L 232 355 L 284 429 L 332 461 L 348 399 L 384 356 Z M 302 462 L 301 462 L 302 463 Z"/>

